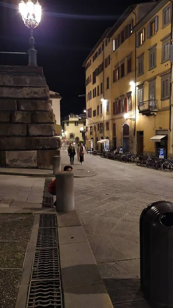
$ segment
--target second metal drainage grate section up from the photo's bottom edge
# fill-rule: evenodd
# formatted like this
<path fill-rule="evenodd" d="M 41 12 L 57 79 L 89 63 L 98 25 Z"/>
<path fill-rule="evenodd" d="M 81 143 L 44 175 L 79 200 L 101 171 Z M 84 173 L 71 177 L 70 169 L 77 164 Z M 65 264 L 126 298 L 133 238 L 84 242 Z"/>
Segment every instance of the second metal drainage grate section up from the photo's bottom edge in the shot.
<path fill-rule="evenodd" d="M 59 255 L 57 249 L 35 251 L 32 280 L 60 278 Z"/>

